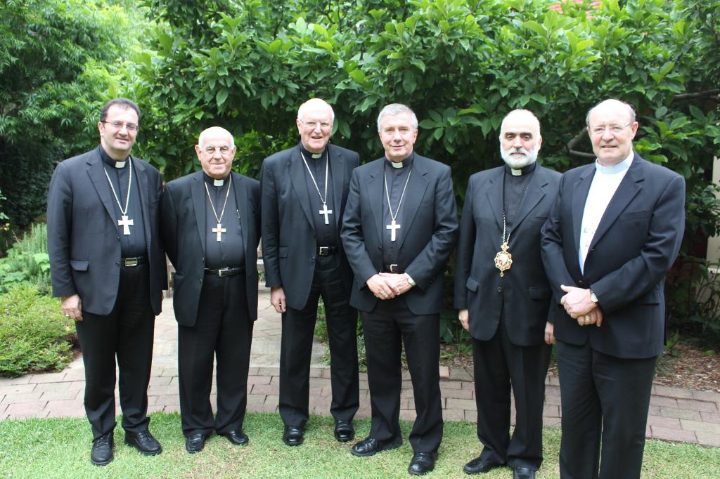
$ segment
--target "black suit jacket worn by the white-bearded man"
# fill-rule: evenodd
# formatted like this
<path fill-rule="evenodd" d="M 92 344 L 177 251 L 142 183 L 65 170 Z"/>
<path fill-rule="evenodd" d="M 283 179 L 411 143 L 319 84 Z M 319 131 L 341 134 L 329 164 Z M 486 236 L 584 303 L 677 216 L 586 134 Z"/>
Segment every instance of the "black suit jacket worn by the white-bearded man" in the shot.
<path fill-rule="evenodd" d="M 539 345 L 552 296 L 540 255 L 540 228 L 557 196 L 560 173 L 536 167 L 513 220 L 513 265 L 500 278 L 494 259 L 503 237 L 504 175 L 501 166 L 470 177 L 456 253 L 455 307 L 469 310 L 475 339 L 492 339 L 504 314 L 514 345 Z"/>

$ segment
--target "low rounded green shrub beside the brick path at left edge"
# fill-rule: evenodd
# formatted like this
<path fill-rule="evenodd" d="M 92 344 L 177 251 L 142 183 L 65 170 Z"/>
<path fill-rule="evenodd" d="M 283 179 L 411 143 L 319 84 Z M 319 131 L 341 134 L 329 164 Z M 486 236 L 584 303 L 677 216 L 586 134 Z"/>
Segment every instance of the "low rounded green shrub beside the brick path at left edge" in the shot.
<path fill-rule="evenodd" d="M 0 375 L 62 370 L 72 359 L 73 321 L 59 300 L 15 285 L 0 295 Z"/>

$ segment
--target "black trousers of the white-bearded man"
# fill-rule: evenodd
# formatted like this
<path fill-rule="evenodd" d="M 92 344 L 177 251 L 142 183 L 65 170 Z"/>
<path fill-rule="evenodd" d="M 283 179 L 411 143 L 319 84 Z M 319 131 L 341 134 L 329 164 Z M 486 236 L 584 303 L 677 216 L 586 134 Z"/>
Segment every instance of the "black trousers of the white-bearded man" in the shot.
<path fill-rule="evenodd" d="M 510 467 L 538 470 L 542 464 L 542 413 L 550 347 L 510 342 L 504 314 L 489 341 L 472 339 L 477 437 L 480 457 Z M 510 385 L 516 426 L 510 437 Z"/>

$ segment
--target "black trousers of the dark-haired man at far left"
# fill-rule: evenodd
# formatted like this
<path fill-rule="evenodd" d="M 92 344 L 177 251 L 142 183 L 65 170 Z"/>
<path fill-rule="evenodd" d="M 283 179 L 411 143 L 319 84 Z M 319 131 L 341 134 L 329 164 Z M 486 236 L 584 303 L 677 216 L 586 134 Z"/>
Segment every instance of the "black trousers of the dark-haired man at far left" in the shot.
<path fill-rule="evenodd" d="M 83 311 L 76 321 L 85 365 L 85 412 L 94 439 L 115 428 L 115 360 L 120 373 L 122 427 L 148 428 L 148 383 L 153 361 L 155 314 L 150 306 L 150 268 L 122 266 L 110 314 Z"/>

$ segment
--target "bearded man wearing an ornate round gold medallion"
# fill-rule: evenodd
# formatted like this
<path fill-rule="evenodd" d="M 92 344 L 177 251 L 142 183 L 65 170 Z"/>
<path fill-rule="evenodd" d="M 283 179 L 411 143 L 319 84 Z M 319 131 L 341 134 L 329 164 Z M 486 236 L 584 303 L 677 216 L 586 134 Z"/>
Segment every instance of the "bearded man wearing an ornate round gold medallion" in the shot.
<path fill-rule="evenodd" d="M 540 228 L 560 174 L 536 163 L 541 143 L 535 115 L 510 111 L 500 127 L 505 166 L 472 175 L 465 193 L 455 307 L 472 337 L 477 437 L 483 445 L 480 456 L 465 465 L 468 474 L 508 464 L 514 478 L 534 478 L 542 463 L 551 289 Z M 512 438 L 510 385 L 516 404 Z"/>

